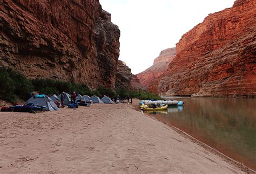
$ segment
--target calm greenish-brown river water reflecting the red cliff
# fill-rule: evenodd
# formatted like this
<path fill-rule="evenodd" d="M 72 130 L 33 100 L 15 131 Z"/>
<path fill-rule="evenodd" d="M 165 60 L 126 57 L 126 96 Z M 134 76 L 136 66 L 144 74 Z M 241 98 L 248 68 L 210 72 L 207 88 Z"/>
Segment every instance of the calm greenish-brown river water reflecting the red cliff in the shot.
<path fill-rule="evenodd" d="M 167 99 L 182 100 L 184 106 L 148 114 L 256 170 L 256 99 Z"/>

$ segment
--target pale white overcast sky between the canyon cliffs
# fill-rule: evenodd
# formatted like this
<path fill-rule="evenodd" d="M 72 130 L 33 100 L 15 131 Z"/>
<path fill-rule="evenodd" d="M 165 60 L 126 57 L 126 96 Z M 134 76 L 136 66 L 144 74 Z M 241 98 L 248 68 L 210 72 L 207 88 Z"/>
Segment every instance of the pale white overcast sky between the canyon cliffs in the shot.
<path fill-rule="evenodd" d="M 230 8 L 234 0 L 99 0 L 119 26 L 120 60 L 140 73 L 161 50 L 175 47 L 209 13 Z"/>

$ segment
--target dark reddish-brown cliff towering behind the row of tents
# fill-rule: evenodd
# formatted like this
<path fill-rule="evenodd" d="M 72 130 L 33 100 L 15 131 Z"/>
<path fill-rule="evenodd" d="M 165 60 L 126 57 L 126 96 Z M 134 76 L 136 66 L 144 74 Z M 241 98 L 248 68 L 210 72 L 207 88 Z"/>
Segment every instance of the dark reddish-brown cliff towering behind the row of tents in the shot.
<path fill-rule="evenodd" d="M 0 66 L 114 89 L 120 31 L 110 20 L 98 0 L 3 0 Z"/>

